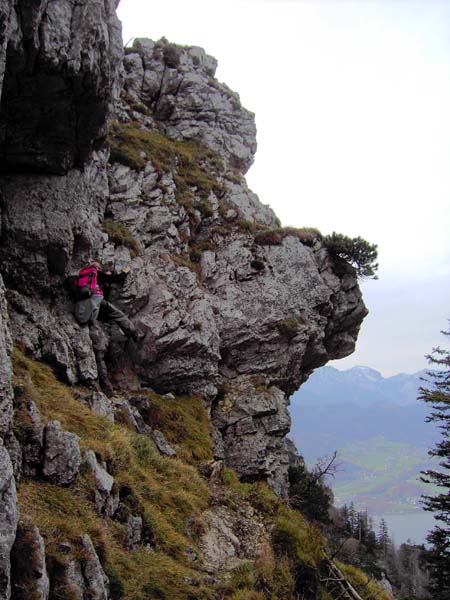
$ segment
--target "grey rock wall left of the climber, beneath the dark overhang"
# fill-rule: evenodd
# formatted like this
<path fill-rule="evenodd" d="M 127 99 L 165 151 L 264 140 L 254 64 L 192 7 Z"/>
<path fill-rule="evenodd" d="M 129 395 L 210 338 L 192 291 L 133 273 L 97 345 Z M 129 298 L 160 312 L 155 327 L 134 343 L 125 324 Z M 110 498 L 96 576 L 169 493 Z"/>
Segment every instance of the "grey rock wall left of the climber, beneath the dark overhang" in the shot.
<path fill-rule="evenodd" d="M 72 317 L 65 282 L 106 239 L 104 162 L 64 176 L 5 175 L 1 190 L 0 260 L 14 338 L 66 381 L 97 377 L 89 332 Z"/>

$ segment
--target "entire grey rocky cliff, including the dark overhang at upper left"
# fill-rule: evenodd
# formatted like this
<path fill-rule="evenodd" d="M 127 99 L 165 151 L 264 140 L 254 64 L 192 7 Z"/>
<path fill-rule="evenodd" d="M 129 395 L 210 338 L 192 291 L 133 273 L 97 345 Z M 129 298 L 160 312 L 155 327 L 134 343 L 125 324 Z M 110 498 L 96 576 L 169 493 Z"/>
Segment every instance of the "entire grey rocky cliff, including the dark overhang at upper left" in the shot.
<path fill-rule="evenodd" d="M 215 68 L 202 49 L 164 40 L 136 40 L 122 57 L 110 0 L 0 0 L 0 427 L 16 473 L 24 449 L 11 433 L 11 336 L 69 385 L 95 380 L 89 329 L 73 318 L 66 286 L 95 257 L 130 268 L 111 299 L 143 333 L 134 344 L 102 325 L 119 396 L 149 388 L 200 396 L 216 459 L 286 493 L 289 395 L 314 368 L 353 351 L 367 311 L 352 267 L 331 257 L 317 232 L 280 228 L 248 189 L 253 115 Z M 114 402 L 122 419 L 150 431 L 145 402 Z M 35 408 L 26 410 L 36 424 Z M 103 401 L 102 414 L 114 410 Z M 76 440 L 57 421 L 36 431 L 25 446 L 38 458 L 25 467 L 71 485 Z M 47 458 L 70 445 L 69 479 L 58 480 Z M 14 507 L 13 465 L 2 452 L 2 490 Z M 11 535 L 0 560 L 17 514 L 5 518 Z M 92 555 L 89 539 L 83 544 Z M 69 546 L 61 551 L 72 556 Z M 7 566 L 2 577 L 7 598 Z M 80 589 L 92 583 L 76 577 Z M 108 597 L 100 583 L 95 597 Z"/>

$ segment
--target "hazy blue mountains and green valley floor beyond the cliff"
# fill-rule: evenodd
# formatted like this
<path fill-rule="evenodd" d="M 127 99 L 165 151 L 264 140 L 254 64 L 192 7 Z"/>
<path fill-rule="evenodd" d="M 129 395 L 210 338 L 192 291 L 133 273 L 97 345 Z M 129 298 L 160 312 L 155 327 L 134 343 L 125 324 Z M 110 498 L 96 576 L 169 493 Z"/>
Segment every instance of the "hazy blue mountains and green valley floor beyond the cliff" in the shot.
<path fill-rule="evenodd" d="M 417 400 L 426 371 L 385 378 L 369 367 L 322 367 L 291 398 L 291 437 L 308 464 L 338 450 L 336 502 L 372 513 L 417 510 L 427 450 L 438 439 Z M 428 488 L 427 493 L 431 490 Z"/>

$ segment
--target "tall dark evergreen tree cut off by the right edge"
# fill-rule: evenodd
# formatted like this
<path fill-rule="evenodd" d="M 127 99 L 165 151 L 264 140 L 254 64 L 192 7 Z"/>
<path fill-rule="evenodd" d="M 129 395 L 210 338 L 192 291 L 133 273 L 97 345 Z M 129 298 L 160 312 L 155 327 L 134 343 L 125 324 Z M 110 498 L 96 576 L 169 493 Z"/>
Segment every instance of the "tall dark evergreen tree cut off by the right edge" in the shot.
<path fill-rule="evenodd" d="M 450 336 L 448 331 L 442 332 Z M 438 424 L 442 439 L 429 455 L 439 459 L 439 470 L 422 471 L 422 481 L 442 489 L 433 496 L 423 496 L 425 510 L 434 513 L 439 524 L 428 535 L 431 549 L 427 554 L 430 569 L 430 591 L 433 600 L 450 598 L 450 353 L 435 348 L 427 357 L 435 369 L 428 372 L 427 387 L 420 389 L 419 400 L 431 406 L 428 422 Z"/>

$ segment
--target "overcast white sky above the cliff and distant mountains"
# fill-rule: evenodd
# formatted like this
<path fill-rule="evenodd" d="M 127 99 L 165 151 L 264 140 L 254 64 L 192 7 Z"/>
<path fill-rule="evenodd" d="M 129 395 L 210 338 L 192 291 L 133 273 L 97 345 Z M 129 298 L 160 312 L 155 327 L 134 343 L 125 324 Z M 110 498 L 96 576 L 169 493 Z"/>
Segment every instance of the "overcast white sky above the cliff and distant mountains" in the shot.
<path fill-rule="evenodd" d="M 357 350 L 334 364 L 426 366 L 450 318 L 450 2 L 121 0 L 124 42 L 219 61 L 256 114 L 247 180 L 283 225 L 378 244 Z"/>

